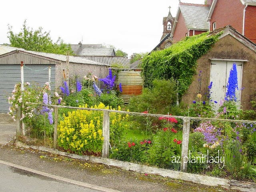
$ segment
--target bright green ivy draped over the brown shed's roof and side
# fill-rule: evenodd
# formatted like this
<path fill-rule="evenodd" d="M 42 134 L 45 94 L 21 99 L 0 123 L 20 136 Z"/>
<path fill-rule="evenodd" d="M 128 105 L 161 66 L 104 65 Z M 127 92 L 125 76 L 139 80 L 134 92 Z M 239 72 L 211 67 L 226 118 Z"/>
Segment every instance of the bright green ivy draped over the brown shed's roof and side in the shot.
<path fill-rule="evenodd" d="M 172 46 L 152 52 L 142 60 L 144 86 L 152 87 L 154 79 L 178 81 L 178 92 L 182 96 L 193 81 L 196 73 L 196 61 L 206 54 L 218 40 L 219 34 L 205 32 L 186 37 Z"/>

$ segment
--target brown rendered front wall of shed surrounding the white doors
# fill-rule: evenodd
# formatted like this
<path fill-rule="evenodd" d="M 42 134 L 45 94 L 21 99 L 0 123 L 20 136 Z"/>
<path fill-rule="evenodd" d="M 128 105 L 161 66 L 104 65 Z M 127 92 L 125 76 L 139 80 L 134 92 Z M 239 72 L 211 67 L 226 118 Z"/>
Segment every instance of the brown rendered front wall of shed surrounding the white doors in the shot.
<path fill-rule="evenodd" d="M 197 60 L 197 74 L 194 75 L 194 81 L 187 93 L 182 97 L 182 101 L 191 104 L 195 100 L 196 94 L 199 93 L 198 74 L 200 70 L 202 70 L 201 94 L 204 95 L 207 92 L 210 84 L 210 58 L 248 60 L 243 64 L 242 87 L 244 87 L 244 90 L 242 90 L 241 94 L 241 108 L 243 110 L 248 109 L 250 100 L 256 90 L 256 53 L 230 35 L 221 38 L 207 54 Z"/>

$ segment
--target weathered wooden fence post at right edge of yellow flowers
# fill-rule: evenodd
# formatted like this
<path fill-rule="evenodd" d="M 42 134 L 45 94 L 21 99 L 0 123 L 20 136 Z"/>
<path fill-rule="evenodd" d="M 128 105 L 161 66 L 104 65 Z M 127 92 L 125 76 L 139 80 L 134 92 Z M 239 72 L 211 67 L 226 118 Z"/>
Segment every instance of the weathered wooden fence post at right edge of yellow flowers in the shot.
<path fill-rule="evenodd" d="M 102 157 L 108 158 L 109 155 L 109 126 L 110 126 L 110 112 L 103 112 L 103 126 L 102 126 L 102 136 L 104 138 L 102 145 Z"/>

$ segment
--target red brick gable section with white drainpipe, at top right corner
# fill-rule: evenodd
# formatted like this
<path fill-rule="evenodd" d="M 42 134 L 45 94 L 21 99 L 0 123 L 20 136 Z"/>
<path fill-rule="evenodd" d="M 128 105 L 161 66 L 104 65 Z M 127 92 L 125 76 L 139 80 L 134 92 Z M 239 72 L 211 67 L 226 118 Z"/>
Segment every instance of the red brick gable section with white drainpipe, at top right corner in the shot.
<path fill-rule="evenodd" d="M 256 43 L 256 0 L 208 0 L 209 30 L 231 25 Z"/>

